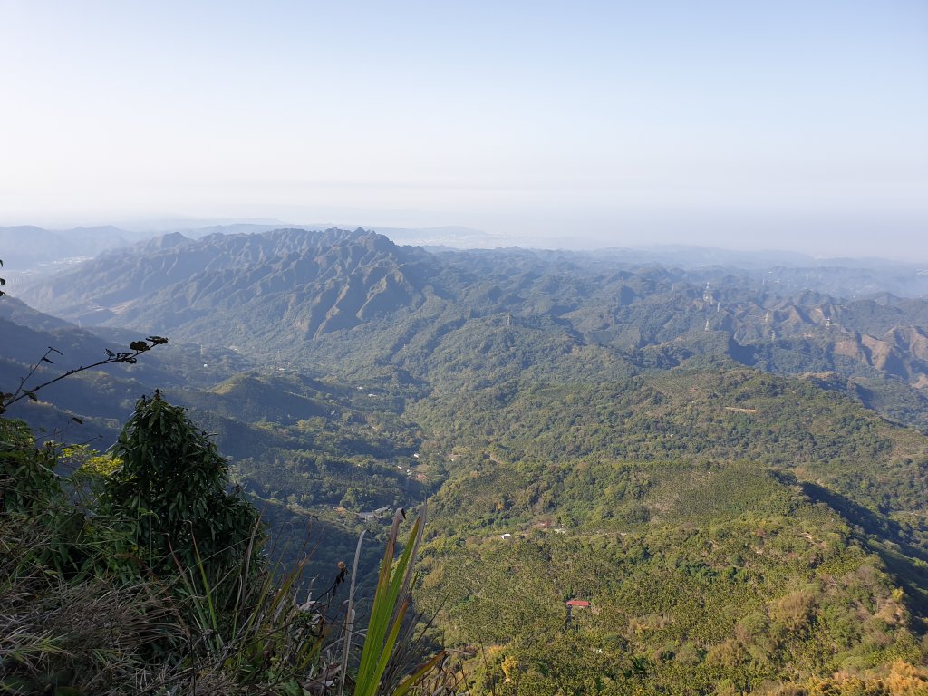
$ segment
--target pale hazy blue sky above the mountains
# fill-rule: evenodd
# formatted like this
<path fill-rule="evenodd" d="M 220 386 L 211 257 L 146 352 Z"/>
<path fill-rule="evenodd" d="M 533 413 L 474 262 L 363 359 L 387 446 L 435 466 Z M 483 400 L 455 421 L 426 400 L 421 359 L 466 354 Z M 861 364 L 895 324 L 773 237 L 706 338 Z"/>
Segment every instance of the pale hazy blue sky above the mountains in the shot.
<path fill-rule="evenodd" d="M 928 2 L 0 0 L 0 225 L 172 215 L 928 258 Z"/>

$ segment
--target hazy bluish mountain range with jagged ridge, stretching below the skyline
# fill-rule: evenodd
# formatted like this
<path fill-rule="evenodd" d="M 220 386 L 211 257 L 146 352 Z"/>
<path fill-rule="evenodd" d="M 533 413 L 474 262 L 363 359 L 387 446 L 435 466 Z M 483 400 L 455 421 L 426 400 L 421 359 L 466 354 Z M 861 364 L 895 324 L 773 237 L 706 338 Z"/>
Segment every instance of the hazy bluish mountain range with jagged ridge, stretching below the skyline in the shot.
<path fill-rule="evenodd" d="M 661 365 L 727 354 L 774 371 L 831 370 L 928 388 L 928 301 L 885 291 L 879 271 L 686 270 L 642 266 L 637 258 L 624 251 L 425 251 L 361 228 L 199 239 L 174 233 L 21 283 L 17 294 L 84 326 L 232 345 L 305 364 L 354 354 L 421 378 L 427 375 L 405 346 L 422 340 L 422 327 L 441 355 L 449 342 L 472 341 L 505 322 L 513 331 L 535 327 L 577 347 Z M 862 288 L 874 292 L 843 299 Z"/>

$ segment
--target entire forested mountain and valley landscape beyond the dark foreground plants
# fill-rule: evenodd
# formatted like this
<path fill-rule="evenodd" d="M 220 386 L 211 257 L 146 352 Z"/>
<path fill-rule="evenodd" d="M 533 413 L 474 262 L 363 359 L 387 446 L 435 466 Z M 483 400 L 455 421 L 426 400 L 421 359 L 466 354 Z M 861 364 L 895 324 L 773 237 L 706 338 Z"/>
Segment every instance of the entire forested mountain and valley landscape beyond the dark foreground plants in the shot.
<path fill-rule="evenodd" d="M 329 566 L 431 497 L 417 602 L 473 693 L 920 693 L 928 301 L 888 273 L 177 235 L 12 289 L 103 328 L 5 298 L 4 379 L 171 337 L 48 400 L 161 387 Z"/>

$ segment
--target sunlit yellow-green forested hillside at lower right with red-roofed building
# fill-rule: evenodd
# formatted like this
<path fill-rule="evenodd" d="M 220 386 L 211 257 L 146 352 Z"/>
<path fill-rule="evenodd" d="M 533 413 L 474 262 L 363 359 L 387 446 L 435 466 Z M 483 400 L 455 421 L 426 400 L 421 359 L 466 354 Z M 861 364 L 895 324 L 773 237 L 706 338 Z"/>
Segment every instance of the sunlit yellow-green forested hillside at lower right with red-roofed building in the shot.
<path fill-rule="evenodd" d="M 697 362 L 500 385 L 429 418 L 456 470 L 421 600 L 445 638 L 503 646 L 497 688 L 507 660 L 551 693 L 607 664 L 604 692 L 635 692 L 636 659 L 649 693 L 921 660 L 928 440 L 843 394 Z M 569 599 L 596 611 L 568 621 Z"/>

